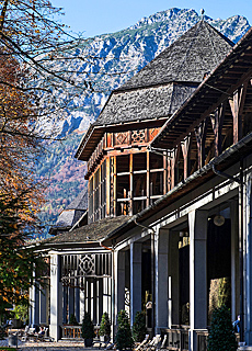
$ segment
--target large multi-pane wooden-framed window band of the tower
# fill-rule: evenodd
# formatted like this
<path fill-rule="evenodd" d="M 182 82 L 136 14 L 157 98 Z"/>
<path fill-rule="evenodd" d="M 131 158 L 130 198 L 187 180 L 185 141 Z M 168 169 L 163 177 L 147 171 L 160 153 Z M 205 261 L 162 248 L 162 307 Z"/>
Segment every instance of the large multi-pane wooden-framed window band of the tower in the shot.
<path fill-rule="evenodd" d="M 133 215 L 165 194 L 168 157 L 146 148 L 111 151 L 89 181 L 89 223 Z"/>

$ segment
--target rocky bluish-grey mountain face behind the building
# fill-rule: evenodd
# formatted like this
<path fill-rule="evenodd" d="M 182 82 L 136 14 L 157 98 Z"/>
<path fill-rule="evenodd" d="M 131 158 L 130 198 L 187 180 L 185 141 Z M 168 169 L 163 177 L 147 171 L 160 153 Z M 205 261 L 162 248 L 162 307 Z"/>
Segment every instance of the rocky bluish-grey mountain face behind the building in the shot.
<path fill-rule="evenodd" d="M 112 34 L 103 34 L 80 42 L 75 55 L 80 59 L 67 68 L 75 71 L 75 79 L 83 84 L 89 77 L 92 93 L 73 91 L 75 98 L 56 125 L 42 125 L 41 128 L 55 128 L 65 141 L 48 146 L 48 152 L 37 165 L 41 179 L 48 179 L 48 203 L 42 214 L 46 224 L 51 224 L 61 210 L 85 186 L 84 169 L 81 161 L 75 160 L 75 151 L 84 131 L 93 123 L 104 106 L 110 92 L 125 83 L 130 77 L 171 45 L 179 36 L 202 19 L 194 10 L 170 9 L 144 18 L 135 25 Z M 204 20 L 237 43 L 249 30 L 245 18 L 234 15 L 227 20 Z M 62 90 L 64 95 L 64 90 Z"/>

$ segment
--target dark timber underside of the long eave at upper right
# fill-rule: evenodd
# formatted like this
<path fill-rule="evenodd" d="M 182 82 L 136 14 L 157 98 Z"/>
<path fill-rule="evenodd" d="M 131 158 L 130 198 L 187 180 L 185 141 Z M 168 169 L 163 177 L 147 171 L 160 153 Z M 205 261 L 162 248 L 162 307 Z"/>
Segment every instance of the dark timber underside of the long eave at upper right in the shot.
<path fill-rule="evenodd" d="M 252 29 L 165 122 L 151 146 L 172 149 L 252 76 Z"/>

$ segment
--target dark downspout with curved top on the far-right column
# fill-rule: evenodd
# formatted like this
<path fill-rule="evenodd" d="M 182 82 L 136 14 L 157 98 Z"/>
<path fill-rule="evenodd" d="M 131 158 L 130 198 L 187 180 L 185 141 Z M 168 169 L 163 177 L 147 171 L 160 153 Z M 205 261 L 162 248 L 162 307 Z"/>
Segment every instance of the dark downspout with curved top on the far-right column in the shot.
<path fill-rule="evenodd" d="M 240 263 L 240 342 L 244 341 L 244 280 L 243 280 L 243 159 L 240 160 L 240 177 L 234 178 L 225 172 L 218 171 L 215 165 L 211 166 L 214 173 L 239 183 L 239 263 Z"/>

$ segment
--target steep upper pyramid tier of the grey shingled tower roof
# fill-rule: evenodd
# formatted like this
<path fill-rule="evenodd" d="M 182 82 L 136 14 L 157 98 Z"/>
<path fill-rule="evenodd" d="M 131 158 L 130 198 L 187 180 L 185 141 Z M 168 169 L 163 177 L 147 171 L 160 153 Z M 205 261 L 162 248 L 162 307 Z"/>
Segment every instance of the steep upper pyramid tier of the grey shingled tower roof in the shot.
<path fill-rule="evenodd" d="M 201 82 L 233 45 L 210 24 L 199 21 L 117 90 L 171 81 Z"/>

